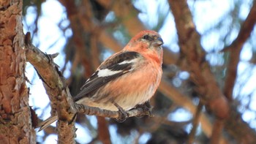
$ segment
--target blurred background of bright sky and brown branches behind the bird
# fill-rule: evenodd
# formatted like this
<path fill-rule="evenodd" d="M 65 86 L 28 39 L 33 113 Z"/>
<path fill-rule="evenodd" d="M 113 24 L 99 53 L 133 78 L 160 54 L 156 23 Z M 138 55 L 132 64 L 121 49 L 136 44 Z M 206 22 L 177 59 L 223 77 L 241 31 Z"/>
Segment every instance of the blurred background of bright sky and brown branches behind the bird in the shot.
<path fill-rule="evenodd" d="M 191 12 L 189 23 L 195 24 L 205 61 L 219 89 L 227 91 L 225 83 L 233 50 L 230 45 L 243 32 L 241 26 L 254 1 L 188 0 L 186 3 L 180 11 L 187 7 Z M 203 106 L 197 83 L 191 80 L 191 69 L 179 43 L 181 34 L 176 29 L 173 9 L 176 5 L 172 4 L 167 0 L 23 1 L 24 33 L 30 31 L 33 44 L 43 52 L 60 53 L 54 61 L 67 78 L 72 95 L 78 93 L 101 61 L 124 48 L 139 31 L 158 31 L 165 42 L 162 84 L 151 99 L 154 117 L 128 118 L 119 124 L 110 118 L 78 115 L 77 143 L 187 143 L 188 140 L 209 143 L 216 117 Z M 252 23 L 255 25 L 255 21 Z M 232 100 L 228 101 L 231 118 L 227 118 L 221 133 L 222 143 L 256 141 L 256 30 L 246 32 L 249 37 L 241 42 L 237 73 L 231 77 L 234 80 L 230 88 Z M 27 83 L 29 103 L 39 118 L 46 119 L 50 116 L 49 99 L 29 63 L 26 76 L 31 81 Z M 196 112 L 201 116 L 195 115 Z M 55 124 L 37 133 L 38 143 L 56 143 L 57 138 Z"/>

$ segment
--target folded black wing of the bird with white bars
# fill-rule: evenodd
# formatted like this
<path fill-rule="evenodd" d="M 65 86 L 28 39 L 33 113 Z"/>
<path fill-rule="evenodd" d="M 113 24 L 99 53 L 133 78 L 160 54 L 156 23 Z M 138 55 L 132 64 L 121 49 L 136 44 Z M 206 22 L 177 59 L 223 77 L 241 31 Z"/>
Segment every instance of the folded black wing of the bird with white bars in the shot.
<path fill-rule="evenodd" d="M 80 89 L 81 91 L 74 96 L 74 100 L 78 101 L 83 96 L 93 96 L 100 87 L 130 72 L 133 69 L 132 65 L 141 57 L 140 53 L 132 51 L 116 53 L 111 56 L 89 77 Z"/>

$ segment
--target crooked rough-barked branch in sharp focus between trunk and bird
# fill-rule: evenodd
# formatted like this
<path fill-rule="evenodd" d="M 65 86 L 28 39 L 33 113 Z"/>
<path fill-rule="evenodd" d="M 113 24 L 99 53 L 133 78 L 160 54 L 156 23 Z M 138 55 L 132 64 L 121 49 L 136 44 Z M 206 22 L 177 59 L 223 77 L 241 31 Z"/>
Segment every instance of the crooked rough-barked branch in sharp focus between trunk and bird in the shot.
<path fill-rule="evenodd" d="M 58 143 L 75 143 L 76 113 L 69 88 L 64 83 L 64 77 L 53 63 L 52 55 L 42 53 L 41 50 L 31 44 L 30 33 L 25 36 L 26 58 L 42 80 L 46 93 L 50 99 L 51 115 L 58 115 L 57 123 Z"/>

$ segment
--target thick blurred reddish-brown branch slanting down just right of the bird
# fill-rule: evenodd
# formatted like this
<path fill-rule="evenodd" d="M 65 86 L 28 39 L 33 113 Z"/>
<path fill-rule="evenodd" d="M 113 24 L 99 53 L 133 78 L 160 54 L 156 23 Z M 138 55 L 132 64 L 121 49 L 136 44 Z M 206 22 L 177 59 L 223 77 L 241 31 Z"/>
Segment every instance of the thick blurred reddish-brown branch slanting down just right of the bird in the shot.
<path fill-rule="evenodd" d="M 200 94 L 200 98 L 217 117 L 217 121 L 219 119 L 223 120 L 228 117 L 229 104 L 221 89 L 217 86 L 217 81 L 211 73 L 208 62 L 205 60 L 206 53 L 200 45 L 200 35 L 195 29 L 187 1 L 169 0 L 169 4 L 176 22 L 181 53 L 186 58 L 189 66 L 187 71 L 190 73 L 190 79 L 197 86 L 196 90 Z M 214 129 L 216 128 L 214 127 Z M 222 127 L 219 129 L 222 129 Z M 219 140 L 219 137 L 217 140 Z"/>

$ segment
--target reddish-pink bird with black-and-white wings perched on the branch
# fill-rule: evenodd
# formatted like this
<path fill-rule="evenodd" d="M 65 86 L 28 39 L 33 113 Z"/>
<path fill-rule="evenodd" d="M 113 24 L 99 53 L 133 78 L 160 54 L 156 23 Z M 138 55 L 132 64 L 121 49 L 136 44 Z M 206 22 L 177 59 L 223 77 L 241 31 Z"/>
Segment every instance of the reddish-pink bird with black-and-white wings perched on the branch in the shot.
<path fill-rule="evenodd" d="M 140 31 L 99 65 L 73 97 L 74 102 L 113 111 L 148 105 L 162 77 L 163 43 L 156 31 Z M 53 115 L 42 121 L 39 131 L 57 119 Z"/>

